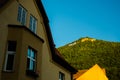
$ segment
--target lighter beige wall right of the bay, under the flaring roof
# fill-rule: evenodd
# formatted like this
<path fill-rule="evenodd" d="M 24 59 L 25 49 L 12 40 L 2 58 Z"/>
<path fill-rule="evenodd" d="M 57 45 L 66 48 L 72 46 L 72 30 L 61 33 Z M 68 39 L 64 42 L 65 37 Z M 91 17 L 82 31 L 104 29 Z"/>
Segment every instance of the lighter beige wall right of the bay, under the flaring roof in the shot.
<path fill-rule="evenodd" d="M 42 80 L 59 80 L 59 72 L 65 74 L 65 80 L 71 80 L 70 72 L 51 60 L 49 47 L 44 44 L 42 54 Z"/>

